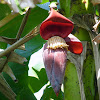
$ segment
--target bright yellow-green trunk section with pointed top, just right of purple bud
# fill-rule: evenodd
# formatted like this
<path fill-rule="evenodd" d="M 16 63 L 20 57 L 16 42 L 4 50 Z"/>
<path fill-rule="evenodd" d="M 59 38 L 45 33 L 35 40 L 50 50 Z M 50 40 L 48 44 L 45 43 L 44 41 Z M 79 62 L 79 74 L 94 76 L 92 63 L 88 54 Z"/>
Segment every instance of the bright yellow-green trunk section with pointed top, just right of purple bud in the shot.
<path fill-rule="evenodd" d="M 67 62 L 64 79 L 65 100 L 81 100 L 77 70 L 74 64 Z"/>

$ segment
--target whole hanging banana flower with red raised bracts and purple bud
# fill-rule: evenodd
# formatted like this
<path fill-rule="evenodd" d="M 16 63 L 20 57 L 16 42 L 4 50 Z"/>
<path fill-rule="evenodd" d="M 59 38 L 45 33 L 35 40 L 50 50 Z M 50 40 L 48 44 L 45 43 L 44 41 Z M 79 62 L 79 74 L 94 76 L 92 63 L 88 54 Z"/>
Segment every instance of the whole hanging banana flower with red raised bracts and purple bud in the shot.
<path fill-rule="evenodd" d="M 48 79 L 56 95 L 59 94 L 67 63 L 67 51 L 81 54 L 82 43 L 74 35 L 73 22 L 51 8 L 40 26 L 40 35 L 48 40 L 43 49 L 43 61 Z"/>

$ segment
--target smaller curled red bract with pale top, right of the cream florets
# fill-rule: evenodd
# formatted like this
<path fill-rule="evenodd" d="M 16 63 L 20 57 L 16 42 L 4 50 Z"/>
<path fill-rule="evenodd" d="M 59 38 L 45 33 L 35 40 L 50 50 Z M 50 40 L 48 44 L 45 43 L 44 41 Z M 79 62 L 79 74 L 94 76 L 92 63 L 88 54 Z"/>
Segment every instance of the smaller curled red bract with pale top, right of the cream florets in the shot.
<path fill-rule="evenodd" d="M 81 54 L 83 51 L 83 46 L 81 41 L 72 34 L 69 34 L 65 38 L 66 43 L 69 45 L 68 49 L 75 54 Z"/>

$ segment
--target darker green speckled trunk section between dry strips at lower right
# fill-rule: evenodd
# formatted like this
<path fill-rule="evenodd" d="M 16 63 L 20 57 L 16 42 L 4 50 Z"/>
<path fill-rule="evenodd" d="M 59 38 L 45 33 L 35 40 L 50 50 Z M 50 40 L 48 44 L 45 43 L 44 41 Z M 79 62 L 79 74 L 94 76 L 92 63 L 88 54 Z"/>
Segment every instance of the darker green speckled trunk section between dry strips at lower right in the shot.
<path fill-rule="evenodd" d="M 88 46 L 89 48 L 90 46 Z M 95 63 L 93 59 L 93 52 L 91 49 L 87 51 L 87 57 L 83 66 L 83 83 L 85 96 L 87 100 L 99 100 L 98 93 L 96 92 L 96 76 L 95 76 Z M 98 99 L 97 99 L 98 98 Z"/>

